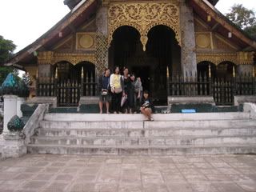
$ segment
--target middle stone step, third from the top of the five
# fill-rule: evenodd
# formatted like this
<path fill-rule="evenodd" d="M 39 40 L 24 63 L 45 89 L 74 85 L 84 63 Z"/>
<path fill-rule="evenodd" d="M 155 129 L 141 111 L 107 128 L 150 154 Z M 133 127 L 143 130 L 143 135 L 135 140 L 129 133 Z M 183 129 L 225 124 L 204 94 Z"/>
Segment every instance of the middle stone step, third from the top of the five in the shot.
<path fill-rule="evenodd" d="M 40 136 L 78 136 L 78 137 L 174 137 L 174 136 L 225 136 L 225 135 L 256 135 L 256 129 L 251 127 L 238 128 L 162 128 L 162 129 L 54 129 L 39 128 Z"/>

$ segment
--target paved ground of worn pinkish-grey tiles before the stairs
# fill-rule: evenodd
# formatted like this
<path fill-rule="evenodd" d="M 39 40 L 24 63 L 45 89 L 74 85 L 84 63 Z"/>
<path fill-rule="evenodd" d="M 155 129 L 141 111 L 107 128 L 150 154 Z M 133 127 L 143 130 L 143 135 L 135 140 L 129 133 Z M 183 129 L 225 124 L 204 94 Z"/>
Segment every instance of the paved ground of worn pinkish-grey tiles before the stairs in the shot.
<path fill-rule="evenodd" d="M 256 191 L 256 156 L 28 154 L 0 161 L 0 191 Z"/>

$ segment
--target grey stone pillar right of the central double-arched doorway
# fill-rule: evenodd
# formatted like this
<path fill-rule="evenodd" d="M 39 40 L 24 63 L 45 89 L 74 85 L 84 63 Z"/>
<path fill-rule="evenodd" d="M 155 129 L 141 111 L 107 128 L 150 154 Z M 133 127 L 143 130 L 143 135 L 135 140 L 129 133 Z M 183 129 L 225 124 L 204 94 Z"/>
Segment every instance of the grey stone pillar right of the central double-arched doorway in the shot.
<path fill-rule="evenodd" d="M 182 74 L 196 74 L 197 63 L 195 54 L 194 14 L 191 7 L 182 0 L 180 4 L 180 21 L 182 33 Z"/>

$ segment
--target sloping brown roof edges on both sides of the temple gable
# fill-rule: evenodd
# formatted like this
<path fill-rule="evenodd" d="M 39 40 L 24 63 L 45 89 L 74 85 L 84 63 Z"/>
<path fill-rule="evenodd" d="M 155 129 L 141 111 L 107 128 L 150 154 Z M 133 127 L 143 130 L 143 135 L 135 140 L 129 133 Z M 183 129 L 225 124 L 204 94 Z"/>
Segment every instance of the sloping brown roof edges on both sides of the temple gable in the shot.
<path fill-rule="evenodd" d="M 66 14 L 46 34 L 43 34 L 35 42 L 15 54 L 14 58 L 11 58 L 5 65 L 15 66 L 23 70 L 22 65 L 24 64 L 34 65 L 34 63 L 37 63 L 36 51 L 50 50 L 62 38 L 72 34 L 74 29 L 95 15 L 98 3 L 101 2 L 100 0 L 65 0 L 64 3 L 67 6 L 73 7 L 70 13 Z M 256 50 L 256 42 L 214 8 L 218 0 L 190 0 L 189 2 L 194 13 L 198 14 L 214 32 L 221 34 L 223 37 L 227 37 L 231 32 L 232 38 L 229 38 L 229 40 L 241 47 L 241 51 Z M 211 18 L 210 22 L 207 21 L 209 16 Z"/>

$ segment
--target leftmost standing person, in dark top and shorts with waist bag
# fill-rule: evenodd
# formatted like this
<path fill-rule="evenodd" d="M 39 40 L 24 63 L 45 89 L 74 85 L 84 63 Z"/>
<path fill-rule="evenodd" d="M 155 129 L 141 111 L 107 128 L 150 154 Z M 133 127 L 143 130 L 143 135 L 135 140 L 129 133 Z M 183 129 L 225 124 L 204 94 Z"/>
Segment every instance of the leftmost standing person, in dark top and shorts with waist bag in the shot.
<path fill-rule="evenodd" d="M 110 113 L 110 69 L 105 69 L 104 74 L 98 78 L 99 111 L 102 114 L 103 102 L 106 103 L 106 114 Z"/>

